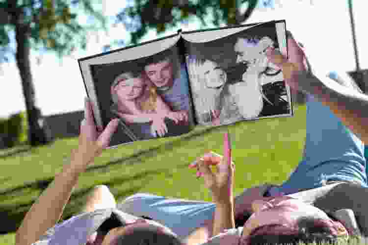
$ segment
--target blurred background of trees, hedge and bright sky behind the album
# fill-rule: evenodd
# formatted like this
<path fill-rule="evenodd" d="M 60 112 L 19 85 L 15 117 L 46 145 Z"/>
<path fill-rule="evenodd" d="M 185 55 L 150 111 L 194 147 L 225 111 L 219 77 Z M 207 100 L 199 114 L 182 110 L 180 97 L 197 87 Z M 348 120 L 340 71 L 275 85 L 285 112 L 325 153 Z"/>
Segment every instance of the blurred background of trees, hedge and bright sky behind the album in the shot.
<path fill-rule="evenodd" d="M 285 19 L 315 67 L 349 72 L 365 91 L 368 56 L 358 53 L 368 53 L 367 7 L 360 0 L 0 0 L 0 148 L 77 135 L 86 96 L 77 59 L 179 28 Z"/>

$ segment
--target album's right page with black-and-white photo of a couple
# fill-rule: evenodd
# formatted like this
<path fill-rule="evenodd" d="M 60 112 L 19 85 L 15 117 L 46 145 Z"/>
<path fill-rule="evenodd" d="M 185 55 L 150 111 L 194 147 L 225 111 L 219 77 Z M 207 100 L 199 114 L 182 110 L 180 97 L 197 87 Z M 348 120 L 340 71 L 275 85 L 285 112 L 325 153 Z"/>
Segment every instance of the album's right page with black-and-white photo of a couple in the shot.
<path fill-rule="evenodd" d="M 292 116 L 289 86 L 265 49 L 287 54 L 285 21 L 182 34 L 197 122 Z"/>

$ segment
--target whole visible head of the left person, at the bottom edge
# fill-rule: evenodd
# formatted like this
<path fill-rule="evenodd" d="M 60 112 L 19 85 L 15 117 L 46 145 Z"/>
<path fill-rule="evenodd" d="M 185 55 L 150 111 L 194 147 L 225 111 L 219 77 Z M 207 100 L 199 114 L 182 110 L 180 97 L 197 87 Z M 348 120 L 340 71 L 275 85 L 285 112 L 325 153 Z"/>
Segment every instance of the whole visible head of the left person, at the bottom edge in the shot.
<path fill-rule="evenodd" d="M 182 245 L 181 241 L 162 226 L 137 220 L 111 229 L 102 245 Z"/>

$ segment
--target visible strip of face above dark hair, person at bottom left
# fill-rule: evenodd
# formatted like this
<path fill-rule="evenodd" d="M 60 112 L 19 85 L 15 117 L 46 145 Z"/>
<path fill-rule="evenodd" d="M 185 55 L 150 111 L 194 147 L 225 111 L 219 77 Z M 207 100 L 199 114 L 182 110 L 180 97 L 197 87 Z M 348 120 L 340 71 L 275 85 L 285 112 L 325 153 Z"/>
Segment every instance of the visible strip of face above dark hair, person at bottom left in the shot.
<path fill-rule="evenodd" d="M 154 228 L 157 229 L 159 233 L 170 233 L 169 230 L 167 230 L 165 227 L 161 227 L 152 223 L 148 223 L 144 219 L 138 219 L 136 221 L 131 222 L 130 224 L 127 224 L 126 226 L 120 226 L 111 229 L 105 236 L 103 242 L 101 245 L 117 245 L 117 240 L 120 236 L 129 235 L 131 234 L 135 229 L 141 229 L 141 228 Z"/>

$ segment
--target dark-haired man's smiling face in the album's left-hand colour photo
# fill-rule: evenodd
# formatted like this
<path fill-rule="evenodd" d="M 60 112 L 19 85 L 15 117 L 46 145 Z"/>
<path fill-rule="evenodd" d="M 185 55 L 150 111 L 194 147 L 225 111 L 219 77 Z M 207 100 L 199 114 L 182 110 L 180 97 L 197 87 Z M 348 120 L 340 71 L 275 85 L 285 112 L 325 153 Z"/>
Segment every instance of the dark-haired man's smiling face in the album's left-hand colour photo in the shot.
<path fill-rule="evenodd" d="M 171 87 L 173 84 L 173 66 L 170 59 L 145 66 L 147 76 L 156 87 Z"/>

